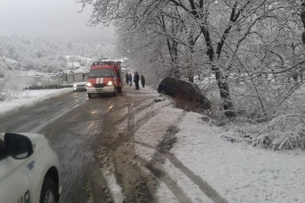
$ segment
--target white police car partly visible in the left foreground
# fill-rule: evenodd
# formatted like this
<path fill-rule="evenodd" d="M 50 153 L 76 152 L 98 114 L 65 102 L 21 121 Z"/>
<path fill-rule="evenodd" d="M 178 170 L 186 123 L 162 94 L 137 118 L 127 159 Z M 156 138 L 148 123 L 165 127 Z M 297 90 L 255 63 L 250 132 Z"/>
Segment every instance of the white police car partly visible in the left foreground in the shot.
<path fill-rule="evenodd" d="M 59 159 L 40 134 L 0 133 L 0 203 L 58 203 Z"/>

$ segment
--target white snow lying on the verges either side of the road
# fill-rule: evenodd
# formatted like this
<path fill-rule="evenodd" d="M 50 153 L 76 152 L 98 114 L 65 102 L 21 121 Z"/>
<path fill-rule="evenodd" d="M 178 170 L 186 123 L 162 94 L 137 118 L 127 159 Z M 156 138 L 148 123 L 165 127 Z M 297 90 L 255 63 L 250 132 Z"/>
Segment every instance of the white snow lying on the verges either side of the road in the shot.
<path fill-rule="evenodd" d="M 67 91 L 72 90 L 25 91 L 16 100 L 0 102 L 0 115 Z M 140 91 L 156 94 L 149 87 Z M 149 111 L 157 114 L 136 131 L 136 141 L 155 146 L 159 138 L 148 133 L 155 135 L 175 124 L 179 129 L 175 135 L 177 142 L 170 152 L 228 202 L 305 203 L 305 152 L 272 152 L 245 143 L 228 142 L 223 138 L 227 132 L 213 126 L 201 114 L 175 108 L 166 97 L 153 103 Z M 141 112 L 142 115 L 136 115 L 136 119 L 146 113 Z M 144 148 L 143 145 L 136 146 L 136 149 L 145 159 L 154 153 L 153 149 Z M 178 185 L 183 185 L 183 192 L 192 202 L 213 202 L 192 181 L 188 181 L 185 174 L 173 167 L 173 163 L 165 161 L 162 167 Z M 159 187 L 160 202 L 176 202 L 172 194 L 162 190 L 166 185 L 160 184 Z"/>

